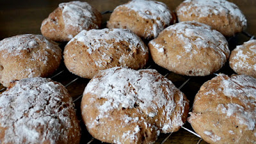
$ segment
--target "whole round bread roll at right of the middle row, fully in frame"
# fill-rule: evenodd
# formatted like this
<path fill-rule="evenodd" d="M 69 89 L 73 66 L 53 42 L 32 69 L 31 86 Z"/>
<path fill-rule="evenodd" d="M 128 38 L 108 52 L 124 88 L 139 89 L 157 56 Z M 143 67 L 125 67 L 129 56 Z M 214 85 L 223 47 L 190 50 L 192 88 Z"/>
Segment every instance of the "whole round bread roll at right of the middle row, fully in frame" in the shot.
<path fill-rule="evenodd" d="M 199 22 L 179 22 L 164 29 L 148 44 L 155 63 L 177 74 L 206 76 L 228 59 L 227 40 Z"/>

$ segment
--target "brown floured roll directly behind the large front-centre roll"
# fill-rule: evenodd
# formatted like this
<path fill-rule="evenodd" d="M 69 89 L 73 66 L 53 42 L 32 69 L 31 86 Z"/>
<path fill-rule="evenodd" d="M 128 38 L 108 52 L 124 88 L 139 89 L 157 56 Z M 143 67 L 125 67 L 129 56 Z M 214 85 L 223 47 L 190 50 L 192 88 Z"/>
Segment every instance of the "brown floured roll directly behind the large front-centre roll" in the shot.
<path fill-rule="evenodd" d="M 64 62 L 77 76 L 91 79 L 111 67 L 139 69 L 148 61 L 148 47 L 127 29 L 81 31 L 64 49 Z"/>

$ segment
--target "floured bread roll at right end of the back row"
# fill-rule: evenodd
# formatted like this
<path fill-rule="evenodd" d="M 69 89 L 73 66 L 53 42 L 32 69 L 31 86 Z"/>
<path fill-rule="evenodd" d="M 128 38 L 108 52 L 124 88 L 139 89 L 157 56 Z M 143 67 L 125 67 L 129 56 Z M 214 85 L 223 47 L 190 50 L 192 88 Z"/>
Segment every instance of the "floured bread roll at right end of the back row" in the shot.
<path fill-rule="evenodd" d="M 236 4 L 226 0 L 186 0 L 176 11 L 180 22 L 202 22 L 225 36 L 233 36 L 247 25 L 246 18 Z"/>

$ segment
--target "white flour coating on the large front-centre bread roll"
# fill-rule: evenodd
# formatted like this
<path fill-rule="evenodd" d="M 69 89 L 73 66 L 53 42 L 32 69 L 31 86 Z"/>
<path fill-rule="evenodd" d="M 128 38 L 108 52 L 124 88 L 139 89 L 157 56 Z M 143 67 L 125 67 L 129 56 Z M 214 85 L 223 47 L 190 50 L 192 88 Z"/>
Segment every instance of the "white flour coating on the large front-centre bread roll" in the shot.
<path fill-rule="evenodd" d="M 170 132 L 168 129 L 173 125 L 183 125 L 182 115 L 184 106 L 187 104 L 183 99 L 183 93 L 179 92 L 171 81 L 156 72 L 156 70 L 131 70 L 120 67 L 100 71 L 100 77 L 93 77 L 83 95 L 86 93 L 95 95 L 90 102 L 95 102 L 97 99 L 106 99 L 106 101 L 97 104 L 99 115 L 86 126 L 92 128 L 98 125 L 100 118 L 111 118 L 109 111 L 120 108 L 137 109 L 138 113 L 156 118 L 155 122 L 161 123 L 158 129 L 163 132 Z M 159 78 L 163 80 L 157 80 Z M 176 103 L 173 100 L 173 92 L 179 93 L 180 96 Z M 179 110 L 175 111 L 177 106 Z M 163 113 L 158 113 L 159 109 L 163 109 Z M 127 124 L 137 122 L 139 119 L 125 115 L 123 120 Z M 141 118 L 141 120 L 144 119 Z M 123 136 L 129 133 L 129 131 L 125 132 Z"/>

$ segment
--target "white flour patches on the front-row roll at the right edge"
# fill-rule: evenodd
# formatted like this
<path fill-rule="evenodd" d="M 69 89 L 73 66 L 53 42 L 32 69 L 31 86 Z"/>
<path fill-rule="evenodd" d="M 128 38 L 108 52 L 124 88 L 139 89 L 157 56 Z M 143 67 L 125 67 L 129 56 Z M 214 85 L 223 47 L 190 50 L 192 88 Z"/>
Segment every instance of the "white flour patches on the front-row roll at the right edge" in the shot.
<path fill-rule="evenodd" d="M 237 75 L 231 78 L 225 79 L 225 75 L 221 74 L 219 77 L 223 77 L 221 80 L 221 93 L 225 96 L 239 99 L 246 108 L 236 103 L 218 104 L 217 109 L 220 109 L 222 113 L 227 116 L 236 117 L 239 124 L 247 125 L 248 130 L 255 129 L 256 123 L 256 79 L 250 76 Z M 249 105 L 253 105 L 250 108 Z"/>

